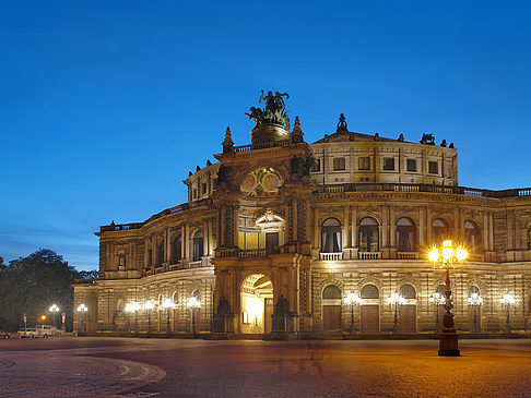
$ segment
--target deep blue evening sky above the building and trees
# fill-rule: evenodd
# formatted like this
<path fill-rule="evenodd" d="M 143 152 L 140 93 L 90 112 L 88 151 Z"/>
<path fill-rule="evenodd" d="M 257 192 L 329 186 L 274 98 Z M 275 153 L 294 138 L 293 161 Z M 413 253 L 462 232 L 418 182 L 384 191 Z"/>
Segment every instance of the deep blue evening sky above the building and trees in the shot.
<path fill-rule="evenodd" d="M 455 142 L 459 183 L 530 186 L 527 1 L 16 1 L 0 5 L 0 256 L 97 267 L 101 225 L 186 201 L 260 89 L 305 138 Z"/>

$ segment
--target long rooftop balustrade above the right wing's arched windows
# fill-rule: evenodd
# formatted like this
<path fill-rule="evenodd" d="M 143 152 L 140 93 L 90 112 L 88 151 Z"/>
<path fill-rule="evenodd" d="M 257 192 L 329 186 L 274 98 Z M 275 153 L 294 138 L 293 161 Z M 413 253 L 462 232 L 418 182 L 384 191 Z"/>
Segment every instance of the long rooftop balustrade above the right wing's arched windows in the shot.
<path fill-rule="evenodd" d="M 433 185 L 433 184 L 405 184 L 405 183 L 345 183 L 345 184 L 328 184 L 321 185 L 317 189 L 318 193 L 339 193 L 339 192 L 433 192 L 433 193 L 449 193 L 468 196 L 483 196 L 483 197 L 518 197 L 531 196 L 531 188 L 521 188 L 514 190 L 479 190 L 468 186 L 448 186 L 448 185 Z"/>

